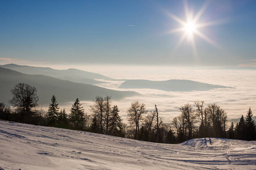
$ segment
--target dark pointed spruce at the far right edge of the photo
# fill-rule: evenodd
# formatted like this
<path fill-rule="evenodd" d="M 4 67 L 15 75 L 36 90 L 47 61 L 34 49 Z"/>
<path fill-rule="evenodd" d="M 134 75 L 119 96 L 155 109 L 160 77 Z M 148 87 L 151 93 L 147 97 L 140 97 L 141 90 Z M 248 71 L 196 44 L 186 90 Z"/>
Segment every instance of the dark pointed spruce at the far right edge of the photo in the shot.
<path fill-rule="evenodd" d="M 245 139 L 247 141 L 255 140 L 255 121 L 253 120 L 253 112 L 249 108 L 245 118 Z"/>

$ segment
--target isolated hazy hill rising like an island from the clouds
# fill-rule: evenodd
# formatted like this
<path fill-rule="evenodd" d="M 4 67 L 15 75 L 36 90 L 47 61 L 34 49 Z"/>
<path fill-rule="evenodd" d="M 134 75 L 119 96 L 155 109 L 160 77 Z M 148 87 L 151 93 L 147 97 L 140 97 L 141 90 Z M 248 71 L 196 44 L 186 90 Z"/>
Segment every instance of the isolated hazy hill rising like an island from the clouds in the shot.
<path fill-rule="evenodd" d="M 192 80 L 126 80 L 118 88 L 153 88 L 163 91 L 206 91 L 213 88 L 229 87 L 200 83 Z"/>

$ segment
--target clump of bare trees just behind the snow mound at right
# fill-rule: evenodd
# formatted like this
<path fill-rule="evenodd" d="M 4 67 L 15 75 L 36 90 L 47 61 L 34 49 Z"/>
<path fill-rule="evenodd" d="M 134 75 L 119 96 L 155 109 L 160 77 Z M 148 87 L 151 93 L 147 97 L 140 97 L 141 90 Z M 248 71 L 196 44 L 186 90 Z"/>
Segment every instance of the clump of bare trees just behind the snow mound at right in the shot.
<path fill-rule="evenodd" d="M 227 116 L 224 109 L 218 105 L 209 104 L 205 107 L 204 101 L 195 101 L 195 108 L 185 104 L 181 106 L 180 111 L 181 114 L 172 121 L 177 141 L 195 137 L 226 138 Z"/>

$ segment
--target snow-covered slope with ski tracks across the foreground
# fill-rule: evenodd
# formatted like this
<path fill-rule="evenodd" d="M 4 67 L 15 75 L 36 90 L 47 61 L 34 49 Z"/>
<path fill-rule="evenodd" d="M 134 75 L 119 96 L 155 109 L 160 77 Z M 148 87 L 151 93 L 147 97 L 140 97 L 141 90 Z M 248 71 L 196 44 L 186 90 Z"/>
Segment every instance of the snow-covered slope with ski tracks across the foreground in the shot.
<path fill-rule="evenodd" d="M 256 141 L 201 138 L 170 145 L 0 121 L 0 167 L 256 169 Z"/>

